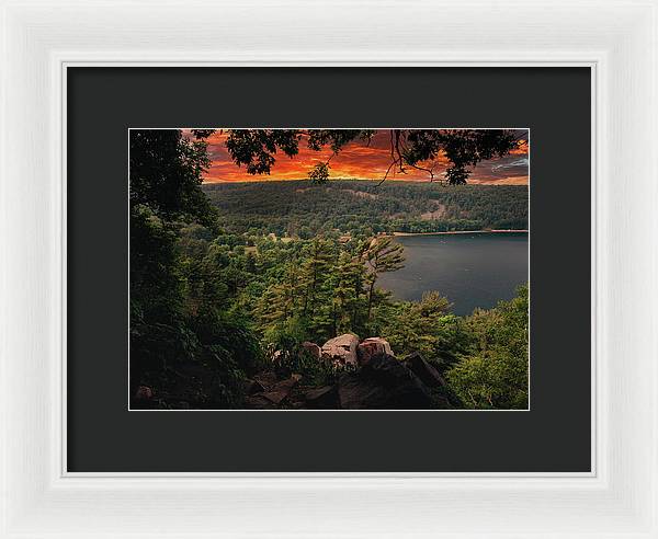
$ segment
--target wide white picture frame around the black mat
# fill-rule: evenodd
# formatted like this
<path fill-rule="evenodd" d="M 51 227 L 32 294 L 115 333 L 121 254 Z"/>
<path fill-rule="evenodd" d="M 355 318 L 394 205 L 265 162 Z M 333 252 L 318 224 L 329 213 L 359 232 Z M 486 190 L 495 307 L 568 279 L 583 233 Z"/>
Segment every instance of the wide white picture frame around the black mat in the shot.
<path fill-rule="evenodd" d="M 656 9 L 2 2 L 1 537 L 658 538 Z M 68 472 L 66 70 L 126 65 L 590 67 L 591 472 Z"/>

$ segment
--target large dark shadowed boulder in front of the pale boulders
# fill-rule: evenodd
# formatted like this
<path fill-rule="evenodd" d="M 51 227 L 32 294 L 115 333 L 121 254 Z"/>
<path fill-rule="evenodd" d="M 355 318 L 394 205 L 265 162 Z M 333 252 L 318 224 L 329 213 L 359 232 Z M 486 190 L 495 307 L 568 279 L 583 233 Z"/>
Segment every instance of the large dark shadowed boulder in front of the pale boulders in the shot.
<path fill-rule="evenodd" d="M 420 379 L 395 357 L 376 354 L 356 372 L 338 380 L 340 406 L 347 410 L 428 410 L 432 398 Z"/>

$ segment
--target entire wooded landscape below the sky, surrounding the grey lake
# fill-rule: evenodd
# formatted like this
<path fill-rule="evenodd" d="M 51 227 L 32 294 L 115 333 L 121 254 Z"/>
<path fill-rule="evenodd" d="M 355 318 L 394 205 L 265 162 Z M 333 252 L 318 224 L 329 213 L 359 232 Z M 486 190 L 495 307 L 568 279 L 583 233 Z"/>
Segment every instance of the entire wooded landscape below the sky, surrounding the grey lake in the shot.
<path fill-rule="evenodd" d="M 527 190 L 204 185 L 203 136 L 131 134 L 132 409 L 525 409 L 527 287 L 396 301 L 393 231 L 525 229 Z M 423 228 L 427 227 L 427 228 Z"/>

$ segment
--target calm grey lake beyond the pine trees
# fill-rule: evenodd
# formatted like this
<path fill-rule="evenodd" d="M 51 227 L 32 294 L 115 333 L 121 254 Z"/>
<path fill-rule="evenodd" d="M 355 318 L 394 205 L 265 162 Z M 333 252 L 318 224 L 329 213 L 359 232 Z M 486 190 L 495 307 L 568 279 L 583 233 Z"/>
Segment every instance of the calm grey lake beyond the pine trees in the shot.
<path fill-rule="evenodd" d="M 514 297 L 527 282 L 527 233 L 400 236 L 405 267 L 379 277 L 381 288 L 395 298 L 419 300 L 438 290 L 464 316 L 476 307 L 489 309 Z"/>

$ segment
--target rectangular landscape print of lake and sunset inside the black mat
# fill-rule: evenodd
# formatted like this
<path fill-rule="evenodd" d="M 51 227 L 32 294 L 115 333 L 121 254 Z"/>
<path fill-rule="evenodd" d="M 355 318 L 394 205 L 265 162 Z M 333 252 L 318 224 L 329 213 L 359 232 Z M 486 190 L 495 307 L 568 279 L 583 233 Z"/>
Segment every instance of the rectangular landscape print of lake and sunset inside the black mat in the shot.
<path fill-rule="evenodd" d="M 131 410 L 529 410 L 529 129 L 128 138 Z"/>

